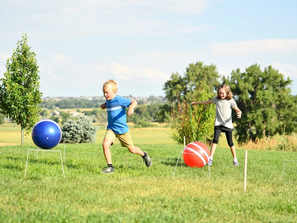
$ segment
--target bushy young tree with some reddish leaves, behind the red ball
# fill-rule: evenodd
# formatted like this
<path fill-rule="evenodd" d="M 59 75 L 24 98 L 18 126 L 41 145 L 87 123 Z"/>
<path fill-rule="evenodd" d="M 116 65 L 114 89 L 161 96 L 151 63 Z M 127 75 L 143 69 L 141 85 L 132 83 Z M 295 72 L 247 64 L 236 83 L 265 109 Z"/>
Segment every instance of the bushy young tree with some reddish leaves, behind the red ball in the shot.
<path fill-rule="evenodd" d="M 200 81 L 194 93 L 195 101 L 206 101 L 213 98 L 214 93 L 210 92 L 205 81 Z M 183 100 L 178 103 L 178 112 L 172 109 L 173 132 L 171 138 L 179 144 L 186 144 L 193 141 L 205 142 L 213 134 L 215 120 L 215 105 L 196 105 L 191 106 L 192 101 Z"/>

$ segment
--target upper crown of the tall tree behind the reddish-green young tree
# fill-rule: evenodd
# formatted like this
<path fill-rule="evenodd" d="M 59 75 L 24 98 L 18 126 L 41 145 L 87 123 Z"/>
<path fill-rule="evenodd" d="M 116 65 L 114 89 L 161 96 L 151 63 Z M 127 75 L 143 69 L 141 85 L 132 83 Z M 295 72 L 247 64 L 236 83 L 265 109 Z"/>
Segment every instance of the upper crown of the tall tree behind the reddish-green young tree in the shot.
<path fill-rule="evenodd" d="M 169 102 L 181 103 L 180 98 L 184 100 L 193 100 L 193 95 L 200 81 L 204 80 L 212 93 L 219 85 L 219 74 L 217 67 L 213 64 L 203 65 L 203 62 L 189 64 L 186 73 L 182 77 L 178 72 L 172 73 L 170 79 L 165 82 L 163 90 Z"/>

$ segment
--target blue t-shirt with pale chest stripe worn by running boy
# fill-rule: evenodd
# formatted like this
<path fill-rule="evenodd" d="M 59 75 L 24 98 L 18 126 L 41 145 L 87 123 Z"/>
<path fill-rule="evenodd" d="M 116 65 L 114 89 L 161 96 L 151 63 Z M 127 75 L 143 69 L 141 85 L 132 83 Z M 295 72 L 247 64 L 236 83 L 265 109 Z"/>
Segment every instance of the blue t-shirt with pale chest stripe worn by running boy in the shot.
<path fill-rule="evenodd" d="M 107 129 L 116 134 L 123 134 L 129 131 L 126 120 L 126 107 L 129 107 L 132 100 L 116 95 L 111 100 L 106 100 Z"/>

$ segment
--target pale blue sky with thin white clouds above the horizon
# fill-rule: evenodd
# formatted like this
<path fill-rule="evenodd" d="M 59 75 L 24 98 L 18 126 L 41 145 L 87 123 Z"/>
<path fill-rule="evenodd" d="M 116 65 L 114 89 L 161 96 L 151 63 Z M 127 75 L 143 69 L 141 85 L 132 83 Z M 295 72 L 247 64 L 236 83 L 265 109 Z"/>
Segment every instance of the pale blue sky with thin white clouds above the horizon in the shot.
<path fill-rule="evenodd" d="M 295 0 L 0 0 L 0 78 L 25 32 L 43 97 L 164 96 L 190 63 L 220 75 L 257 63 L 293 80 L 297 94 Z M 231 89 L 232 90 L 232 89 Z"/>

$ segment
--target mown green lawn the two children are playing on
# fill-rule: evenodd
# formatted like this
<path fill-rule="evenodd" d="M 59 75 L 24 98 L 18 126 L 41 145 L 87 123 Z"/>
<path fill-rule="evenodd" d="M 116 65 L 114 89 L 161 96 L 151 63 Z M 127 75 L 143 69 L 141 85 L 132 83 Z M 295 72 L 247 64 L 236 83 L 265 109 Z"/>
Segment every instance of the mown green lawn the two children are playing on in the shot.
<path fill-rule="evenodd" d="M 136 144 L 136 143 L 135 143 Z M 136 144 L 152 166 L 119 144 L 111 149 L 115 174 L 98 144 L 66 145 L 65 178 L 59 153 L 31 145 L 0 147 L 0 222 L 296 222 L 297 153 L 248 151 L 247 191 L 230 149 L 217 147 L 208 167 L 181 168 L 172 178 L 182 146 Z M 62 148 L 60 148 L 62 150 Z M 63 154 L 62 154 L 63 156 Z"/>

